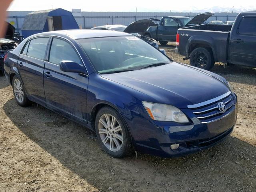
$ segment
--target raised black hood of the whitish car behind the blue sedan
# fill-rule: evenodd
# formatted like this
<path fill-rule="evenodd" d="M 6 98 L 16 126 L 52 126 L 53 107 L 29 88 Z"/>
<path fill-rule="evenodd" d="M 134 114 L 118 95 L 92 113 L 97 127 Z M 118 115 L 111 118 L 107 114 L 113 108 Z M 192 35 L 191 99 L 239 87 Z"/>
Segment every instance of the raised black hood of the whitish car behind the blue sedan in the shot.
<path fill-rule="evenodd" d="M 152 20 L 150 19 L 142 19 L 135 22 L 132 22 L 130 25 L 126 27 L 124 32 L 126 33 L 139 33 L 143 34 L 149 26 L 156 26 Z"/>

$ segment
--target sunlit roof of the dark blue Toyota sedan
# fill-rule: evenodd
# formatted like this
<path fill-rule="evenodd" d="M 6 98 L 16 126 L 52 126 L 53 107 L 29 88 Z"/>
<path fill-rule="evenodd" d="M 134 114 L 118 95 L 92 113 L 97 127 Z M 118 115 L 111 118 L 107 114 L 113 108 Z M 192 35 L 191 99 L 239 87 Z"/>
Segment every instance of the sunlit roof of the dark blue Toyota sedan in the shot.
<path fill-rule="evenodd" d="M 94 29 L 74 29 L 74 30 L 58 30 L 34 34 L 30 37 L 42 36 L 42 35 L 55 35 L 72 39 L 83 38 L 98 38 L 98 37 L 113 37 L 113 36 L 132 36 L 131 34 L 112 31 L 112 30 L 94 30 Z"/>

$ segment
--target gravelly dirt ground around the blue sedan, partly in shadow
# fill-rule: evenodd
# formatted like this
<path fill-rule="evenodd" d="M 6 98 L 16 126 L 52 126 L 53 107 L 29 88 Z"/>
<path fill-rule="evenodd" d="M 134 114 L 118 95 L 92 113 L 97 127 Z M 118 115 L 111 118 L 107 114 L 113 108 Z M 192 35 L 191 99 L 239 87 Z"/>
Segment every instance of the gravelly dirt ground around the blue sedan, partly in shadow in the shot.
<path fill-rule="evenodd" d="M 174 46 L 164 46 L 178 62 Z M 0 76 L 0 192 L 253 192 L 256 191 L 256 70 L 212 72 L 238 95 L 234 132 L 218 145 L 182 158 L 144 154 L 123 159 L 102 152 L 93 132 L 33 104 L 16 104 Z"/>

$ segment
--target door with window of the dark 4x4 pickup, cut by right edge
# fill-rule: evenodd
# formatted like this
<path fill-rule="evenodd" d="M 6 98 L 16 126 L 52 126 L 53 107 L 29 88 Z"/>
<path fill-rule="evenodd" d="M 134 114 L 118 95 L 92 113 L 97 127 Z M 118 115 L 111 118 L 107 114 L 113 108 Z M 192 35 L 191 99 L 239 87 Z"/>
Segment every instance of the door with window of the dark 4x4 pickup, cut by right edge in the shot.
<path fill-rule="evenodd" d="M 230 63 L 256 66 L 256 16 L 244 16 L 230 41 Z"/>

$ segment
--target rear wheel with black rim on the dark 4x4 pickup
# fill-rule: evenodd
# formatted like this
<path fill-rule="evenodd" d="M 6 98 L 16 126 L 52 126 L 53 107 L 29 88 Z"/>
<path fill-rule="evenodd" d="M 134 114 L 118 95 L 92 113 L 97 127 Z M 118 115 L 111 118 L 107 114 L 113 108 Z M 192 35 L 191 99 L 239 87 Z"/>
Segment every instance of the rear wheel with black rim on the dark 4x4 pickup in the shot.
<path fill-rule="evenodd" d="M 190 65 L 202 68 L 205 70 L 210 70 L 214 66 L 214 58 L 212 53 L 206 48 L 196 48 L 190 54 Z"/>

